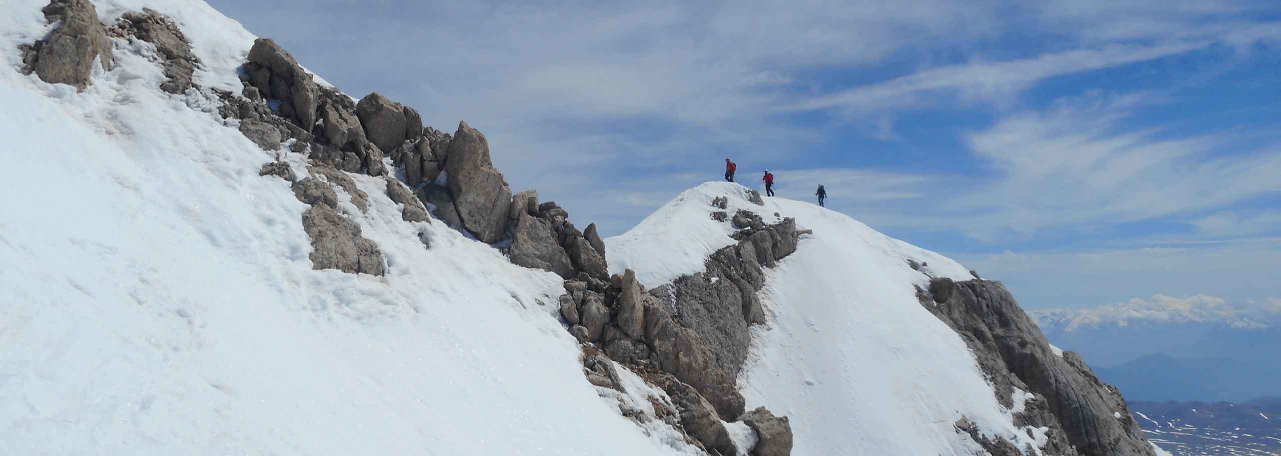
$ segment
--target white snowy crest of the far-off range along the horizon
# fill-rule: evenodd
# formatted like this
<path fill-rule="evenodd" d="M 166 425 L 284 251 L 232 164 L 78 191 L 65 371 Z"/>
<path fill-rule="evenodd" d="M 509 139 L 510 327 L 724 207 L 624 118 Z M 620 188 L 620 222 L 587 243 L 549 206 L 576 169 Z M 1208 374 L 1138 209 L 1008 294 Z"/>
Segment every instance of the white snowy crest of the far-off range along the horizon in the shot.
<path fill-rule="evenodd" d="M 1063 330 L 1190 323 L 1261 329 L 1281 322 L 1281 298 L 1228 301 L 1217 296 L 1172 297 L 1158 293 L 1150 298 L 1136 297 L 1098 307 L 1034 310 L 1029 315 L 1041 327 Z"/>

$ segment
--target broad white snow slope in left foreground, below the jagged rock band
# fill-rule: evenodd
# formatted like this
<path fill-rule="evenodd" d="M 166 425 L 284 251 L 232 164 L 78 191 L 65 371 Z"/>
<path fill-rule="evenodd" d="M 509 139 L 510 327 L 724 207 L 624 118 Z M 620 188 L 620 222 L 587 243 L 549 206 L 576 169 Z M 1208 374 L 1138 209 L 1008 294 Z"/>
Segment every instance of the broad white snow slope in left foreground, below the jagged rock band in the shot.
<path fill-rule="evenodd" d="M 197 83 L 238 88 L 254 36 L 204 3 L 95 4 L 173 15 Z M 343 211 L 387 277 L 313 270 L 274 152 L 161 92 L 150 45 L 115 40 L 79 94 L 18 73 L 44 5 L 0 3 L 0 453 L 688 451 L 587 383 L 555 274 L 402 222 L 378 178 Z"/>

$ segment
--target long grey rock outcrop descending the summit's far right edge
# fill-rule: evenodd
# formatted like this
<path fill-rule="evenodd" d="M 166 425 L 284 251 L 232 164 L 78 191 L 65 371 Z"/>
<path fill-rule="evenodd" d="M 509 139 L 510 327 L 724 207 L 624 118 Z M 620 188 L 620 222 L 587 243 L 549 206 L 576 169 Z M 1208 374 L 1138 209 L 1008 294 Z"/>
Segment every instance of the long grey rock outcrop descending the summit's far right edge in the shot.
<path fill-rule="evenodd" d="M 1154 456 L 1121 393 L 1099 382 L 1076 354 L 1056 355 L 999 282 L 938 278 L 918 297 L 966 341 L 1002 405 L 1013 405 L 1015 388 L 1034 395 L 1016 424 L 1049 428 L 1047 448 L 1058 455 Z"/>

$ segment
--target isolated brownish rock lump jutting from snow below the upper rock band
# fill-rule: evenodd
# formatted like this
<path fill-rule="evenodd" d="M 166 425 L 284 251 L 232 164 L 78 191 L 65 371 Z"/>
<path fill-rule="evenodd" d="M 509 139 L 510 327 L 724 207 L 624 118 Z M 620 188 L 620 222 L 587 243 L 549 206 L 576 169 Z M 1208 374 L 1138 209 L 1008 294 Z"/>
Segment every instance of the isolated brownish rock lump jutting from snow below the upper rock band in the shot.
<path fill-rule="evenodd" d="M 327 205 L 302 213 L 302 229 L 311 238 L 311 268 L 383 275 L 386 266 L 378 245 L 360 236 L 360 225 Z"/>

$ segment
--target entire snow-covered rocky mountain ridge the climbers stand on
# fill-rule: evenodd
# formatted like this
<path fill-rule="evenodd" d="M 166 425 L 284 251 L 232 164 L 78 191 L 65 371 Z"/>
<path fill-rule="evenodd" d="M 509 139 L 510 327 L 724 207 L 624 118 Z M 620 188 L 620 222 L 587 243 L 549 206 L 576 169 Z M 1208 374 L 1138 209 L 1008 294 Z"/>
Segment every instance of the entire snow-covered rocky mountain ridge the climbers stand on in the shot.
<path fill-rule="evenodd" d="M 707 183 L 601 240 L 201 1 L 3 6 L 3 453 L 1155 452 L 845 215 Z"/>

